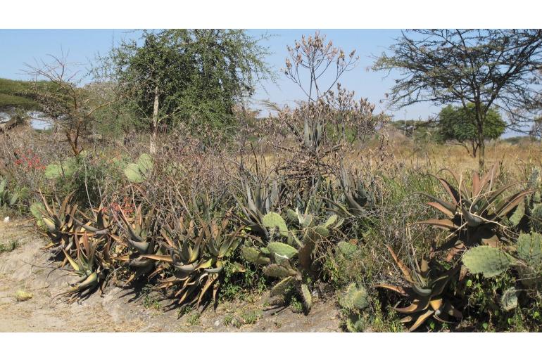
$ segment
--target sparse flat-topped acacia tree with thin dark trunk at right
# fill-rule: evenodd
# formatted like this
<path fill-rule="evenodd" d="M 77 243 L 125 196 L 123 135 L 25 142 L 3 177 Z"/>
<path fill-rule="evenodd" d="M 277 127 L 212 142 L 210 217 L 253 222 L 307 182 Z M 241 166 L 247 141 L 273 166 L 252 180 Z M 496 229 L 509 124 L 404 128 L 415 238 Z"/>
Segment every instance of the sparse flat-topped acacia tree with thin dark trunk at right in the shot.
<path fill-rule="evenodd" d="M 492 107 L 519 130 L 534 119 L 540 97 L 542 30 L 412 30 L 383 53 L 374 70 L 399 70 L 391 89 L 397 107 L 420 102 L 474 104 L 479 168 L 484 169 L 484 127 Z M 527 110 L 527 111 L 526 111 Z"/>

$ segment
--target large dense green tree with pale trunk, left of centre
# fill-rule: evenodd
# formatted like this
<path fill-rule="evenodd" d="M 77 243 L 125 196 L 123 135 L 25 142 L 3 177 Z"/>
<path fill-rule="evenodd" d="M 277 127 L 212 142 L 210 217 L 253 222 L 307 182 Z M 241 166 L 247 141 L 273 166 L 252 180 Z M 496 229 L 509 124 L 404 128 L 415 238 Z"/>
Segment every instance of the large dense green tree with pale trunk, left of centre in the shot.
<path fill-rule="evenodd" d="M 234 106 L 272 77 L 267 49 L 244 30 L 144 31 L 111 53 L 118 82 L 133 89 L 129 101 L 148 119 L 151 153 L 158 127 L 224 128 Z"/>

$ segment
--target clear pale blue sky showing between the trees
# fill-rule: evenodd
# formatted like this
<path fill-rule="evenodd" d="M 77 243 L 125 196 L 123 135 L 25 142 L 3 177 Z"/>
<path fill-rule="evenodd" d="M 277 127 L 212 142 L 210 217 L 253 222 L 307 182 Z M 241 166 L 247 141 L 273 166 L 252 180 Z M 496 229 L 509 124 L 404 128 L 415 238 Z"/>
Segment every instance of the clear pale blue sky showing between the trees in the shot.
<path fill-rule="evenodd" d="M 266 32 L 274 35 L 262 43 L 273 53 L 267 58 L 267 63 L 279 72 L 288 55 L 286 46 L 294 44 L 303 34 L 314 34 L 315 30 L 248 30 L 253 37 L 259 37 Z M 393 74 L 383 79 L 384 73 L 367 71 L 367 67 L 374 62 L 372 56 L 378 56 L 393 44 L 393 39 L 401 34 L 400 30 L 321 30 L 321 34 L 326 34 L 327 39 L 332 40 L 335 46 L 343 48 L 346 53 L 355 49 L 360 57 L 358 67 L 346 73 L 341 78 L 341 84 L 355 91 L 357 98 L 368 98 L 375 103 L 378 111 L 386 110 L 385 102 L 381 101 L 393 85 Z M 88 63 L 95 58 L 96 53 L 106 53 L 112 44 L 123 37 L 135 35 L 128 30 L 0 30 L 0 77 L 27 79 L 25 63 L 32 64 L 36 59 L 46 59 L 48 54 L 58 56 L 62 52 L 68 53 L 70 63 Z M 295 84 L 284 75 L 279 75 L 277 84 L 262 84 L 254 98 L 255 101 L 269 98 L 284 104 L 304 97 Z M 395 113 L 395 119 L 403 119 L 405 110 L 408 119 L 424 119 L 438 112 L 439 108 L 422 103 L 398 112 L 386 112 Z"/>

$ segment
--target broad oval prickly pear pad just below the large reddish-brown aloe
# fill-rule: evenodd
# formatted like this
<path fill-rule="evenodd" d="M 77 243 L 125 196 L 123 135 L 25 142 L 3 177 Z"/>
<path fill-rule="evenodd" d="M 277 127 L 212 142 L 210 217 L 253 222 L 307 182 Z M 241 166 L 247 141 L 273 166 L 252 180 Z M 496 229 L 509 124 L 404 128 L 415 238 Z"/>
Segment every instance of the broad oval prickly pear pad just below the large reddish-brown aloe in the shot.
<path fill-rule="evenodd" d="M 484 245 L 467 250 L 462 261 L 471 273 L 482 273 L 487 278 L 504 273 L 512 264 L 508 254 L 496 247 Z"/>

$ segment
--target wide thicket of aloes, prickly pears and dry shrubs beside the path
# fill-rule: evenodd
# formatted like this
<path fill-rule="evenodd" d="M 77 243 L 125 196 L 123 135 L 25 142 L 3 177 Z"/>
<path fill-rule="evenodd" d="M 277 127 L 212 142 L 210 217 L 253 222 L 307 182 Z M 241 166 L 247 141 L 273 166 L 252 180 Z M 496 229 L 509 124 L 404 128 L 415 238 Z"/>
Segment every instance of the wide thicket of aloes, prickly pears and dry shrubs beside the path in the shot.
<path fill-rule="evenodd" d="M 51 266 L 74 276 L 56 296 L 68 302 L 151 284 L 185 310 L 270 288 L 304 313 L 334 298 L 350 331 L 540 330 L 534 164 L 467 175 L 398 161 L 386 117 L 337 84 L 354 63 L 303 37 L 285 72 L 308 72 L 306 101 L 248 122 L 237 143 L 170 132 L 153 155 L 136 135 L 73 156 L 53 133 L 13 130 L 1 205 L 37 220 Z"/>

